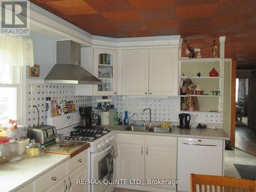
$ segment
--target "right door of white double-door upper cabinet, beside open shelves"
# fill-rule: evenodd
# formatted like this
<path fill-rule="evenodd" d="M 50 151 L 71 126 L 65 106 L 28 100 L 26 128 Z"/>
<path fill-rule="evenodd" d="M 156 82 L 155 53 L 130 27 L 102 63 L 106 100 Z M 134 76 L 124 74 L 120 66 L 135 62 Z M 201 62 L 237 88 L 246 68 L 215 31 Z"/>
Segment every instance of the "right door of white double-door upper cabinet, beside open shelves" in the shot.
<path fill-rule="evenodd" d="M 177 95 L 178 49 L 150 49 L 149 94 L 152 96 Z"/>

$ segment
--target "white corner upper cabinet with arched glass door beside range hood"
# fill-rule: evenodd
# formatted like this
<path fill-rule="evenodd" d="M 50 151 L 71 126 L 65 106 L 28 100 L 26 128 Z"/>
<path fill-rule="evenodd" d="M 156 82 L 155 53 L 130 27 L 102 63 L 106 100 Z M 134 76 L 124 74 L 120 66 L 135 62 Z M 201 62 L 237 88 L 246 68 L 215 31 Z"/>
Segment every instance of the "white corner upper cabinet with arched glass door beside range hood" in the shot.
<path fill-rule="evenodd" d="M 117 95 L 117 50 L 93 49 L 94 75 L 102 84 L 94 85 L 94 95 Z"/>

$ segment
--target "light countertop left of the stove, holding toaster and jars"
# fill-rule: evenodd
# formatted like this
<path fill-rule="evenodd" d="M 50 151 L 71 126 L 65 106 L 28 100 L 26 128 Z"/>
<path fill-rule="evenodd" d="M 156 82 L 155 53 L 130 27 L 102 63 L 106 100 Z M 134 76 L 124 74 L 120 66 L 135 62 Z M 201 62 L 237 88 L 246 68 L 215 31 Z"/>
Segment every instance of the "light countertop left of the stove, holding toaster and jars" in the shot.
<path fill-rule="evenodd" d="M 0 191 L 17 191 L 69 159 L 69 155 L 45 153 L 0 164 Z"/>

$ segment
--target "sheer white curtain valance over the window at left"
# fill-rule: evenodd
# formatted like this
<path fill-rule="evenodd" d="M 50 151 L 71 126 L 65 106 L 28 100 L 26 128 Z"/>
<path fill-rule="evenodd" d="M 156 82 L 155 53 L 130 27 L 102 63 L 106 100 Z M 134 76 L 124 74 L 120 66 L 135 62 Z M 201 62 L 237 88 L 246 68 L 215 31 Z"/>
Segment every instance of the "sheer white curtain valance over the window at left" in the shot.
<path fill-rule="evenodd" d="M 0 35 L 0 64 L 33 67 L 32 39 L 22 36 Z"/>

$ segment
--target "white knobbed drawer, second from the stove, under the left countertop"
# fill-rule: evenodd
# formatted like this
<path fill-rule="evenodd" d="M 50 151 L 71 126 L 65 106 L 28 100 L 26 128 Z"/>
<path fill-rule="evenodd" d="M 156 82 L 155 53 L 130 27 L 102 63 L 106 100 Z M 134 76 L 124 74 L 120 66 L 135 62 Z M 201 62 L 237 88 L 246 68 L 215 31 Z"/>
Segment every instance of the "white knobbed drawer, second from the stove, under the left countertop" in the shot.
<path fill-rule="evenodd" d="M 34 181 L 35 191 L 41 192 L 50 188 L 57 182 L 59 182 L 63 177 L 67 175 L 67 162 L 62 163 L 61 165 L 55 167 L 47 174 L 39 177 Z"/>

